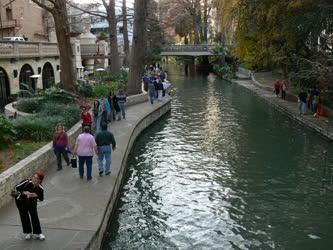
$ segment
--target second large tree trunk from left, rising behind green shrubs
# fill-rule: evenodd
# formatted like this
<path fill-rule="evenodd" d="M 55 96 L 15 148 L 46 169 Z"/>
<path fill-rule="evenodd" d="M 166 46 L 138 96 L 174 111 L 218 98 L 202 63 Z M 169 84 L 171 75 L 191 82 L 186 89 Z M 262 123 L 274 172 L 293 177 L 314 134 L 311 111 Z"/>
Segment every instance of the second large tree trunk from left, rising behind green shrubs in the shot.
<path fill-rule="evenodd" d="M 109 37 L 110 37 L 110 71 L 112 73 L 120 72 L 120 59 L 118 53 L 118 41 L 117 41 L 117 20 L 114 0 L 110 0 L 107 9 L 107 19 L 109 23 Z"/>

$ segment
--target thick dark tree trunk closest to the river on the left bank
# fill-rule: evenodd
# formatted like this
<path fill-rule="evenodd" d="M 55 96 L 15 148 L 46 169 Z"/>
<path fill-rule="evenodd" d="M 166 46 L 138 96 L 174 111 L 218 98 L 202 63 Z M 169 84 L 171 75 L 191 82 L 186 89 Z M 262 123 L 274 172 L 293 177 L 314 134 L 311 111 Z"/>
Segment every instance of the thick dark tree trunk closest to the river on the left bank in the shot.
<path fill-rule="evenodd" d="M 136 0 L 134 4 L 133 42 L 128 79 L 128 94 L 141 93 L 146 54 L 147 7 L 150 0 Z"/>

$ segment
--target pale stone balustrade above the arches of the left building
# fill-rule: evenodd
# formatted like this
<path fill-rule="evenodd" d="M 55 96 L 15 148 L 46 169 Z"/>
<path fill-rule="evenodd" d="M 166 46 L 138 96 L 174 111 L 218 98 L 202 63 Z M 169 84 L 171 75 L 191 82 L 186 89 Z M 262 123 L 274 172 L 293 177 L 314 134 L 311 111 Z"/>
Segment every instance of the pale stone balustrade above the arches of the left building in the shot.
<path fill-rule="evenodd" d="M 0 41 L 0 59 L 59 56 L 58 44 Z"/>

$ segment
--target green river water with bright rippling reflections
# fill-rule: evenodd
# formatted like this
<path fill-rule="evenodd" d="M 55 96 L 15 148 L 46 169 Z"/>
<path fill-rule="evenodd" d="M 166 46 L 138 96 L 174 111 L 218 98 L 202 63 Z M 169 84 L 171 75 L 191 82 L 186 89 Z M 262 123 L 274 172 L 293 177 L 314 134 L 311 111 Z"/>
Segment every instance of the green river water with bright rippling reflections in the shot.
<path fill-rule="evenodd" d="M 136 141 L 103 249 L 333 249 L 332 145 L 235 84 L 170 78 L 171 114 Z"/>

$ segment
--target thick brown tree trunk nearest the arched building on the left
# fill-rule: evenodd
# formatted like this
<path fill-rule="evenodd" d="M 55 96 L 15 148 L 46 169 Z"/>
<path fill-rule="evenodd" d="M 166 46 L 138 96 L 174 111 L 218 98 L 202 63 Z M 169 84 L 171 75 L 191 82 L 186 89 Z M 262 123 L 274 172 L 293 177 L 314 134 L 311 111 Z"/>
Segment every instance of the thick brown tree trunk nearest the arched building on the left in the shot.
<path fill-rule="evenodd" d="M 52 15 L 54 18 L 60 54 L 60 80 L 65 90 L 76 92 L 76 75 L 74 72 L 73 51 L 70 41 L 66 1 L 58 0 L 56 7 L 57 8 L 53 9 Z"/>

